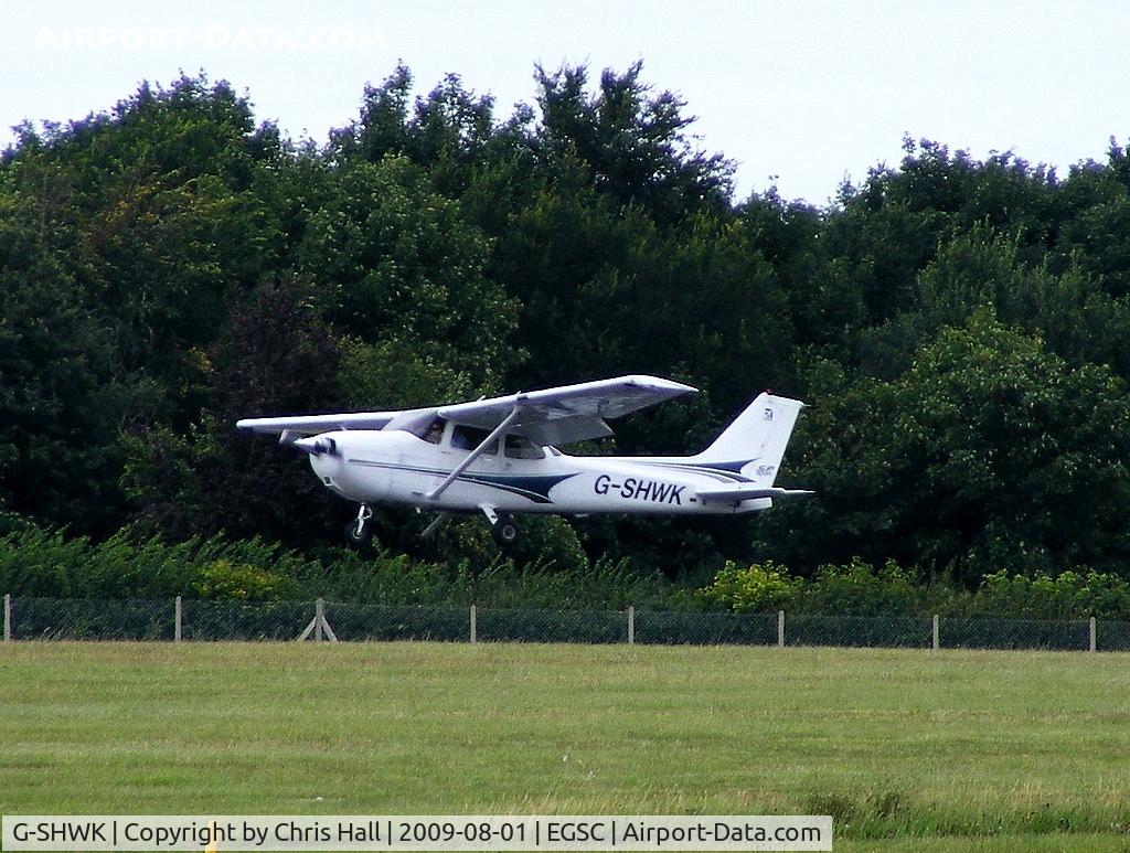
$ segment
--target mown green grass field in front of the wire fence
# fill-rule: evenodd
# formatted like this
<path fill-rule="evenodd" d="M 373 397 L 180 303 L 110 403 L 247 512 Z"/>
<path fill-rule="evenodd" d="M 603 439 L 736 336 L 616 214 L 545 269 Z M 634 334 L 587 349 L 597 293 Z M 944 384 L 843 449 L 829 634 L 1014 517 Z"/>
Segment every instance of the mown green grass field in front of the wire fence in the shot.
<path fill-rule="evenodd" d="M 832 813 L 836 850 L 1130 850 L 1130 656 L 0 646 L 0 813 Z"/>

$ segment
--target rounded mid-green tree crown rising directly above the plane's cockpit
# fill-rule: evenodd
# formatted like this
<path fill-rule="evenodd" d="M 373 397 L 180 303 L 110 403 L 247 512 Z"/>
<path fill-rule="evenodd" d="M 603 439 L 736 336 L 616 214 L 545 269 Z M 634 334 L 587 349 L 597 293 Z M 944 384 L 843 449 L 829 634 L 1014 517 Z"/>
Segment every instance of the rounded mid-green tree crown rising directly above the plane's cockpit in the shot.
<path fill-rule="evenodd" d="M 521 355 L 514 302 L 485 273 L 489 244 L 403 158 L 355 163 L 311 217 L 297 268 L 338 329 L 411 347 L 492 386 Z"/>

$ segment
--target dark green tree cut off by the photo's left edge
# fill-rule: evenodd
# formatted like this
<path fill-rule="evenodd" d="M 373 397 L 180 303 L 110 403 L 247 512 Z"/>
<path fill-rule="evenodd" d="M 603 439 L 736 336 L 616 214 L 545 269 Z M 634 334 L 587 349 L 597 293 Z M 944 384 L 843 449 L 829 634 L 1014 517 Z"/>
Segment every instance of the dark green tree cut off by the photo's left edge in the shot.
<path fill-rule="evenodd" d="M 105 532 L 122 508 L 115 438 L 129 389 L 35 212 L 0 193 L 0 505 Z"/>

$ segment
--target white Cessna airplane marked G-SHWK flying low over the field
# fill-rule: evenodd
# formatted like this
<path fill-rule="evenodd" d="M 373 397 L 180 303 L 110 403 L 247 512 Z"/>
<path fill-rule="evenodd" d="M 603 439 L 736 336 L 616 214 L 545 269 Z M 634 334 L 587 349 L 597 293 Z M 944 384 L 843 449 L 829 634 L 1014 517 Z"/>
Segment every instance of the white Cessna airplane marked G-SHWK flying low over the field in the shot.
<path fill-rule="evenodd" d="M 310 455 L 322 484 L 360 504 L 346 536 L 372 536 L 374 504 L 440 513 L 481 512 L 499 545 L 519 536 L 513 516 L 556 513 L 723 515 L 810 495 L 773 485 L 803 407 L 757 397 L 693 456 L 571 456 L 557 450 L 612 434 L 606 423 L 695 391 L 655 376 L 620 376 L 489 400 L 405 411 L 250 418 L 236 426 L 278 434 Z"/>

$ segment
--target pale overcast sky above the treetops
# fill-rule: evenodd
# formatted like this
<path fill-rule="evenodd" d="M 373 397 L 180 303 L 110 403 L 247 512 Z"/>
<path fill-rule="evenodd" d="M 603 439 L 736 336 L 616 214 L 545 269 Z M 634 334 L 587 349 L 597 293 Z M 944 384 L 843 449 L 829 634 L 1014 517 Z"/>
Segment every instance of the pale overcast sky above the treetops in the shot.
<path fill-rule="evenodd" d="M 139 81 L 203 69 L 260 120 L 319 142 L 402 60 L 421 92 L 457 72 L 501 114 L 533 64 L 623 70 L 672 89 L 739 198 L 776 183 L 826 203 L 845 175 L 897 165 L 904 133 L 1062 173 L 1130 137 L 1130 3 L 360 2 L 47 0 L 0 5 L 0 145 L 11 125 L 110 108 Z"/>

